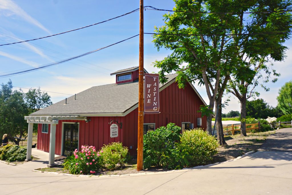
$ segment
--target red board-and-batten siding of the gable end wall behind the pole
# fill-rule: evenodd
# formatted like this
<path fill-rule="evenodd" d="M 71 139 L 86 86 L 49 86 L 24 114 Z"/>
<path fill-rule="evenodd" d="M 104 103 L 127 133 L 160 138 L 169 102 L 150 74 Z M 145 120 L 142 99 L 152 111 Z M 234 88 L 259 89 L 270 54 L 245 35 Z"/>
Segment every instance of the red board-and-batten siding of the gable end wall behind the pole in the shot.
<path fill-rule="evenodd" d="M 201 112 L 197 112 L 204 103 L 195 93 L 189 83 L 184 89 L 179 89 L 177 83 L 172 83 L 159 92 L 160 114 L 145 114 L 144 123 L 155 123 L 155 128 L 166 126 L 168 123 L 175 123 L 181 127 L 183 122 L 190 122 L 197 128 L 197 118 L 201 118 Z M 138 142 L 138 108 L 124 116 L 124 133 L 127 147 L 131 154 L 137 154 Z M 206 116 L 202 118 L 201 128 L 207 128 Z"/>

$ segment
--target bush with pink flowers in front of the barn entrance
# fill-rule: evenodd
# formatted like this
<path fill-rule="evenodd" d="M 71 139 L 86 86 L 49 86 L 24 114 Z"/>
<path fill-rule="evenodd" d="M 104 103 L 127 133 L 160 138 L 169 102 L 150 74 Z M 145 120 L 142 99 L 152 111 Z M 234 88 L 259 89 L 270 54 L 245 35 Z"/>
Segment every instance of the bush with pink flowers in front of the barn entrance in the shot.
<path fill-rule="evenodd" d="M 101 153 L 94 146 L 81 146 L 81 151 L 75 149 L 73 155 L 65 159 L 64 168 L 71 174 L 94 174 L 102 167 Z"/>

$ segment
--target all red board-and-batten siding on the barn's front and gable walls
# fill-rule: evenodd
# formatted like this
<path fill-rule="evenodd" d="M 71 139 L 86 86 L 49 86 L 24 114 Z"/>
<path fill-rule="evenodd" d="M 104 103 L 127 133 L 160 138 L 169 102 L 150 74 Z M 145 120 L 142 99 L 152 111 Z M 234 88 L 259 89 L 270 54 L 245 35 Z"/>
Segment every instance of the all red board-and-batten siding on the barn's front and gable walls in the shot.
<path fill-rule="evenodd" d="M 201 113 L 197 112 L 200 105 L 204 105 L 199 96 L 195 93 L 189 83 L 184 89 L 179 89 L 177 83 L 172 83 L 159 92 L 160 114 L 145 114 L 144 123 L 155 123 L 155 128 L 166 126 L 168 123 L 175 123 L 181 127 L 182 122 L 190 122 L 197 126 L 197 118 L 201 118 Z M 93 145 L 100 149 L 103 144 L 111 142 L 122 142 L 129 148 L 131 155 L 137 154 L 138 139 L 138 108 L 123 117 L 88 117 L 88 123 L 79 120 L 60 120 L 56 126 L 56 147 L 55 153 L 61 155 L 62 147 L 62 122 L 79 123 L 79 149 L 81 145 Z M 110 138 L 109 123 L 111 120 L 122 123 L 119 126 L 119 136 Z M 206 117 L 202 118 L 202 128 L 206 129 Z M 50 126 L 48 133 L 41 133 L 41 124 L 38 128 L 37 148 L 48 152 L 50 139 Z M 130 147 L 132 146 L 132 149 Z"/>

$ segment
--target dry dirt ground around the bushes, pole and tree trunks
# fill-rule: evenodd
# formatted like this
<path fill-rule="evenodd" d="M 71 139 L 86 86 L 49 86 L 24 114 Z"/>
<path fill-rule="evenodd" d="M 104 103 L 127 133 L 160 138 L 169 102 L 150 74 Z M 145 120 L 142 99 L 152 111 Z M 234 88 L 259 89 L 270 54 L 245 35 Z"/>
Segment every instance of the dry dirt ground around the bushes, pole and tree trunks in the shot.
<path fill-rule="evenodd" d="M 231 159 L 235 159 L 250 151 L 257 151 L 257 149 L 265 142 L 268 135 L 275 133 L 275 131 L 267 131 L 260 133 L 247 133 L 246 137 L 240 137 L 240 134 L 230 135 L 225 137 L 227 145 L 225 147 L 219 146 L 217 148 L 218 154 L 215 154 L 213 161 L 208 164 L 216 162 L 224 162 Z M 41 171 L 49 172 L 59 172 L 68 173 L 63 169 L 62 166 L 57 166 L 54 168 L 44 168 Z M 157 172 L 166 171 L 167 169 L 162 168 L 151 168 L 149 170 L 137 171 L 137 158 L 132 158 L 130 162 L 126 165 L 126 168 L 121 170 L 102 170 L 96 175 L 122 175 L 122 174 L 132 174 L 141 172 Z"/>

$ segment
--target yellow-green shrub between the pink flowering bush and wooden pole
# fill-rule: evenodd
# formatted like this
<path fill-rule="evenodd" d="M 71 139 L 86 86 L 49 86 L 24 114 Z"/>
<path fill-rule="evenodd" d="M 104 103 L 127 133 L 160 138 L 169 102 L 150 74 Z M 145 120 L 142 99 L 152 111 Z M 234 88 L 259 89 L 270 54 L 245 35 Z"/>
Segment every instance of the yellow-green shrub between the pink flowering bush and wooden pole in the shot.
<path fill-rule="evenodd" d="M 128 148 L 123 147 L 120 142 L 112 142 L 111 144 L 104 145 L 101 150 L 101 158 L 103 165 L 112 170 L 119 165 L 120 168 L 125 166 L 128 161 Z"/>

